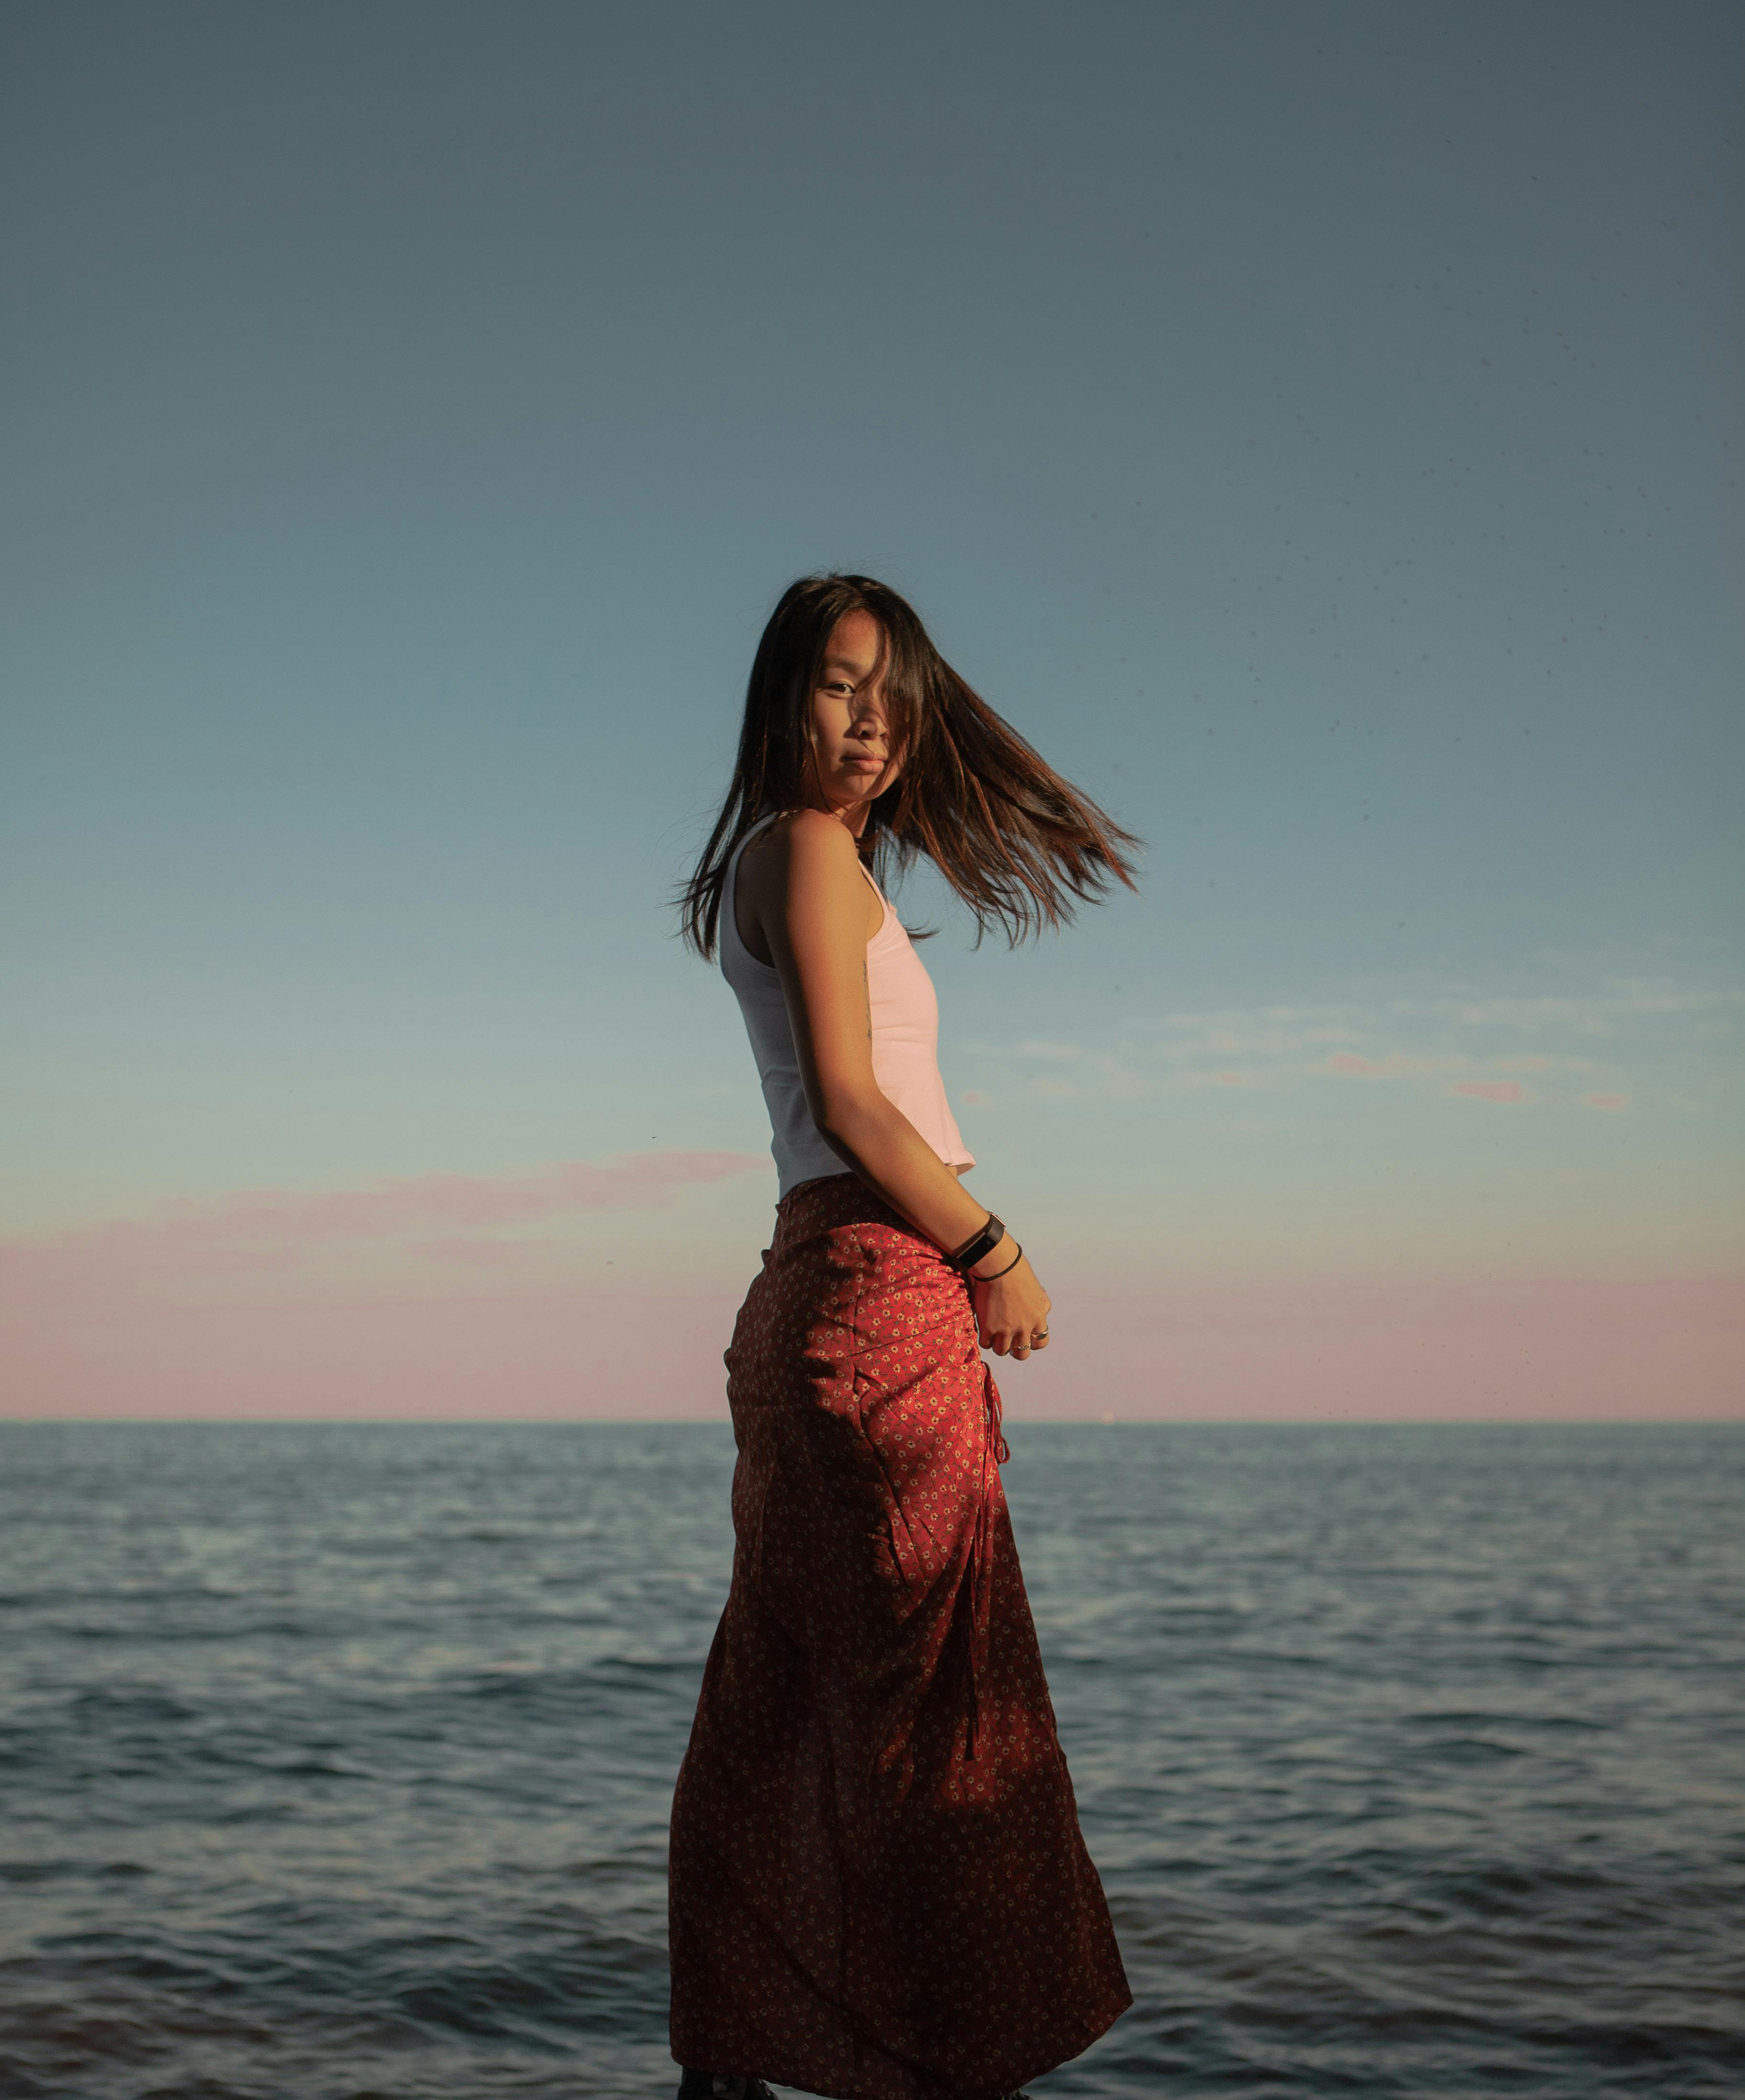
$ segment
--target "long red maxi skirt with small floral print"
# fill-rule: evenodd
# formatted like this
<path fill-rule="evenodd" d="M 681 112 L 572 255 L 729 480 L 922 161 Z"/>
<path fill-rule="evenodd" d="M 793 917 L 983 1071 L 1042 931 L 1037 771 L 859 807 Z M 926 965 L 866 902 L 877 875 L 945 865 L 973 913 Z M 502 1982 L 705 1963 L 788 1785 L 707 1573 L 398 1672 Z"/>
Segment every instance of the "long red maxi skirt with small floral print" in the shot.
<path fill-rule="evenodd" d="M 672 1804 L 672 2054 L 993 2100 L 1130 2003 L 1079 1835 L 964 1279 L 794 1189 L 727 1352 L 733 1588 Z"/>

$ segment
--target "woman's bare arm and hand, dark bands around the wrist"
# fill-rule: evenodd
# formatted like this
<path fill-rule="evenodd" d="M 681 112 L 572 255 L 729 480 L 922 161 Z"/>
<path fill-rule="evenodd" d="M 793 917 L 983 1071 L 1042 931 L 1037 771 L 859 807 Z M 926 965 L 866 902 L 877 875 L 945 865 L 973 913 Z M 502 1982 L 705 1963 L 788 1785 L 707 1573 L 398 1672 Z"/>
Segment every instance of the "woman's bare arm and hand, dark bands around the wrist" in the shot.
<path fill-rule="evenodd" d="M 769 941 L 794 1027 L 806 1105 L 832 1151 L 934 1245 L 962 1247 L 987 1218 L 916 1126 L 878 1088 L 871 1065 L 867 916 L 874 903 L 848 830 L 821 811 L 775 827 L 758 884 L 769 903 L 758 926 Z M 985 1348 L 1027 1348 L 1048 1327 L 1048 1294 L 1012 1235 L 976 1262 L 1006 1270 L 976 1287 Z M 974 1270 L 972 1270 L 974 1275 Z"/>

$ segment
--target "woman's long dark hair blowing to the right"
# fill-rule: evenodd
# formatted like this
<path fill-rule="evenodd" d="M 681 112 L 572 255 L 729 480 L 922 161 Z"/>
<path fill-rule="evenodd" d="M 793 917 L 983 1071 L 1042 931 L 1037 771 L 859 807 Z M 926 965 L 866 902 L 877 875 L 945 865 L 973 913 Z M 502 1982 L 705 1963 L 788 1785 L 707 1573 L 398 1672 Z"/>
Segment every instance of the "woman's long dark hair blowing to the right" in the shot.
<path fill-rule="evenodd" d="M 878 622 L 890 748 L 903 756 L 861 836 L 861 857 L 880 882 L 926 855 L 974 914 L 976 941 L 1000 926 L 1014 947 L 1071 920 L 1111 880 L 1134 888 L 1140 840 L 964 685 L 911 605 L 869 575 L 802 575 L 783 590 L 758 643 L 733 781 L 697 872 L 678 892 L 682 932 L 699 956 L 716 951 L 733 848 L 758 817 L 804 802 L 813 693 L 844 613 Z"/>

